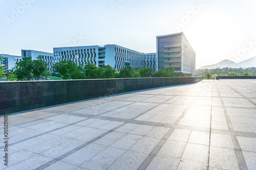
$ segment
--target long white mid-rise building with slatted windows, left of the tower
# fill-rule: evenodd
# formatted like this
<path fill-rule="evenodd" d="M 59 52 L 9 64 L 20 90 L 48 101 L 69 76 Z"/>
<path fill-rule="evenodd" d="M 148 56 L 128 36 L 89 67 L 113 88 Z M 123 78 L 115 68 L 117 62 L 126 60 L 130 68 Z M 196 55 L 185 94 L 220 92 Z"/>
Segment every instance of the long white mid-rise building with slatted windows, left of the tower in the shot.
<path fill-rule="evenodd" d="M 57 47 L 53 48 L 53 54 L 54 63 L 61 60 L 72 60 L 82 66 L 87 63 L 96 66 L 110 64 L 118 72 L 121 71 L 122 67 L 129 65 L 132 65 L 133 68 L 145 67 L 144 53 L 139 53 L 115 44 Z"/>

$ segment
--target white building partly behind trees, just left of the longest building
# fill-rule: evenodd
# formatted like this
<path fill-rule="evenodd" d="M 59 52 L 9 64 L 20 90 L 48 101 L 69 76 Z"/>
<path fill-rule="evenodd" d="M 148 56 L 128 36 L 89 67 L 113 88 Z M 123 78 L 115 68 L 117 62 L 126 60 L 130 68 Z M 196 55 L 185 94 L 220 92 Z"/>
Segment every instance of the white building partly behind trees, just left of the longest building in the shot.
<path fill-rule="evenodd" d="M 49 71 L 53 72 L 53 53 L 39 52 L 34 50 L 22 50 L 22 57 L 30 57 L 32 60 L 36 60 L 37 56 L 42 56 L 44 61 L 48 64 Z"/>

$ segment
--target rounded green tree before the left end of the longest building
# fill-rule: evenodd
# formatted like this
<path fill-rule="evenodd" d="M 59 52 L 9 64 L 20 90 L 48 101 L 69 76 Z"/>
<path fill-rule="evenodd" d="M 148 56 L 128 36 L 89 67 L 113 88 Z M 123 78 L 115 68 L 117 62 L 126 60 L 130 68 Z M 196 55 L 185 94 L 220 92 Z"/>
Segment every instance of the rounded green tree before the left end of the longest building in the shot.
<path fill-rule="evenodd" d="M 71 74 L 74 72 L 77 68 L 76 63 L 74 63 L 71 60 L 68 61 L 60 61 L 58 63 L 55 63 L 53 65 L 53 68 L 59 72 L 62 79 L 71 79 Z"/>

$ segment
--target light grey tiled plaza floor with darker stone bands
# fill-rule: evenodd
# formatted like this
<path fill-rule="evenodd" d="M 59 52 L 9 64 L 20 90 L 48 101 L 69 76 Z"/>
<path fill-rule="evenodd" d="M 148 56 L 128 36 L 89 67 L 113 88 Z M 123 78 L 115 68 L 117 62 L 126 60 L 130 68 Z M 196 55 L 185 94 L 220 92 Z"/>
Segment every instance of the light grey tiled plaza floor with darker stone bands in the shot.
<path fill-rule="evenodd" d="M 256 169 L 255 103 L 256 80 L 203 80 L 15 113 L 0 169 Z"/>

